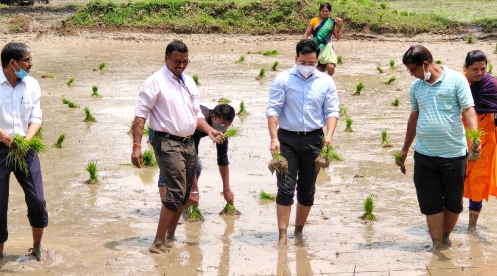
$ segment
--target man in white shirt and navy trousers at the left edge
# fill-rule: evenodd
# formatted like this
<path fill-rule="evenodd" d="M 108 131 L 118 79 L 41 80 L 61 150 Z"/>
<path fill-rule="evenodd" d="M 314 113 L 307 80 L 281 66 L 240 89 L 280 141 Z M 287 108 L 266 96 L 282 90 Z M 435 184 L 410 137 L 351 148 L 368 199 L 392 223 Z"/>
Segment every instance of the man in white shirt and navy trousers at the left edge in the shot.
<path fill-rule="evenodd" d="M 31 50 L 23 43 L 7 43 L 1 51 L 0 72 L 0 258 L 8 238 L 7 208 L 10 173 L 21 185 L 28 207 L 29 224 L 33 231 L 31 254 L 41 258 L 43 228 L 48 225 L 48 213 L 43 197 L 40 159 L 34 151 L 26 157 L 28 174 L 7 162 L 7 153 L 14 134 L 33 138 L 41 126 L 40 85 L 29 76 L 33 66 Z"/>

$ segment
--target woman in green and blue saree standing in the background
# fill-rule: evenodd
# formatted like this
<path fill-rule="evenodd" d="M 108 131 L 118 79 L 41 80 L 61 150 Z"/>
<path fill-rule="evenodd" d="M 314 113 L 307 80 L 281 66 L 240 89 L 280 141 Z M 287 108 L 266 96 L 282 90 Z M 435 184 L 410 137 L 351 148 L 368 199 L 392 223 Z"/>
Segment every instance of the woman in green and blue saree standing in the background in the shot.
<path fill-rule="evenodd" d="M 343 33 L 343 22 L 340 17 L 331 19 L 330 11 L 331 4 L 322 3 L 319 6 L 319 16 L 309 22 L 309 26 L 302 38 L 308 39 L 312 33 L 314 42 L 321 48 L 318 70 L 324 71 L 326 69 L 328 74 L 333 76 L 336 66 L 336 55 L 331 43 L 331 36 L 334 36 L 336 40 L 340 40 Z"/>

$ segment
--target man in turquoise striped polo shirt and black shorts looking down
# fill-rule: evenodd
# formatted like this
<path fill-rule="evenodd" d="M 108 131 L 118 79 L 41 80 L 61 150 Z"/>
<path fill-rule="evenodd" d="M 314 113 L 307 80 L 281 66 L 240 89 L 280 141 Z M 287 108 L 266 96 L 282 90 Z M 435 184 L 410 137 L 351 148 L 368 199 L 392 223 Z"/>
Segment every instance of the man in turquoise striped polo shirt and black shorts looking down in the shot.
<path fill-rule="evenodd" d="M 437 250 L 450 246 L 449 235 L 463 210 L 468 149 L 462 115 L 472 129 L 478 129 L 478 121 L 463 74 L 437 66 L 421 45 L 411 46 L 402 63 L 417 78 L 411 85 L 412 111 L 401 150 L 402 162 L 415 137 L 414 186 L 433 250 Z"/>

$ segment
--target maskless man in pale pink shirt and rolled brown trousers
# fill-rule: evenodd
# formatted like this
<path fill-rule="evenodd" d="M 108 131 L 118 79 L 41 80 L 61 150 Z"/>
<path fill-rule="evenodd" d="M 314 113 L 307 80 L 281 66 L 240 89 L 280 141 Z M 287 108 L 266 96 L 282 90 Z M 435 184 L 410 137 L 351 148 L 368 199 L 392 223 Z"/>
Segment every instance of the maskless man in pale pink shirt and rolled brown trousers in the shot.
<path fill-rule="evenodd" d="M 166 196 L 149 251 L 166 253 L 166 232 L 177 223 L 185 207 L 197 169 L 195 143 L 191 136 L 197 129 L 214 139 L 222 132 L 205 121 L 199 104 L 199 91 L 193 79 L 184 74 L 190 60 L 188 48 L 178 40 L 166 47 L 165 65 L 152 74 L 140 89 L 133 125 L 132 163 L 142 167 L 141 140 L 146 118 L 155 131 L 154 151 L 166 185 Z"/>

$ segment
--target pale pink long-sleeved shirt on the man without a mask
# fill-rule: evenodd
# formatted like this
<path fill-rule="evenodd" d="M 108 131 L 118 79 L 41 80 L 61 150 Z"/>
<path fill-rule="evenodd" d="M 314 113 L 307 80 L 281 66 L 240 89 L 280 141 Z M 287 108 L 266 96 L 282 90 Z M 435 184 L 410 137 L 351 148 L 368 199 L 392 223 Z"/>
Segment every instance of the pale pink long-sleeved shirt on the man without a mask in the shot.
<path fill-rule="evenodd" d="M 166 65 L 147 78 L 138 94 L 135 116 L 149 118 L 150 128 L 179 137 L 192 136 L 200 110 L 199 91 L 193 78 L 181 80 Z"/>

